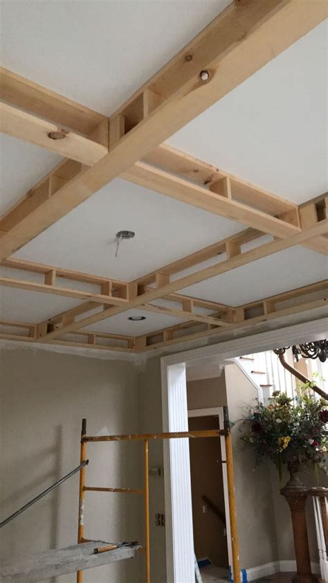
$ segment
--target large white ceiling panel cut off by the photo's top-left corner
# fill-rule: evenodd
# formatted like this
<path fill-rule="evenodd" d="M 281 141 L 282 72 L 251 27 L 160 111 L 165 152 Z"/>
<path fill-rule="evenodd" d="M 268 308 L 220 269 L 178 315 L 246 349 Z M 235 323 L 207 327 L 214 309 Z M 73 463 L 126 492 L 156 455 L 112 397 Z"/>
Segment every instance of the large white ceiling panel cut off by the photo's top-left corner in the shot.
<path fill-rule="evenodd" d="M 229 4 L 2 0 L 2 65 L 109 115 Z"/>

